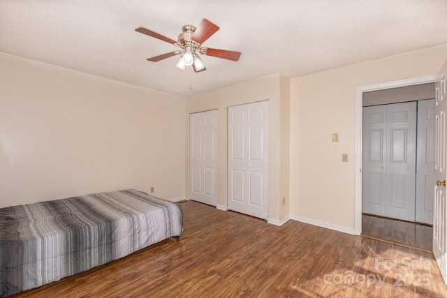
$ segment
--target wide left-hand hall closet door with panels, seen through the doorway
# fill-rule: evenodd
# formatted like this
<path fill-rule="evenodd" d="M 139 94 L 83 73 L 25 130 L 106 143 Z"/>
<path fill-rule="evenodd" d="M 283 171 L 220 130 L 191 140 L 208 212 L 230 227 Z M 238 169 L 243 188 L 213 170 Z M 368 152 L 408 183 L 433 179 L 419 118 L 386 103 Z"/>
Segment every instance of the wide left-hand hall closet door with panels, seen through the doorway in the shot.
<path fill-rule="evenodd" d="M 362 211 L 414 221 L 416 102 L 364 107 Z"/>

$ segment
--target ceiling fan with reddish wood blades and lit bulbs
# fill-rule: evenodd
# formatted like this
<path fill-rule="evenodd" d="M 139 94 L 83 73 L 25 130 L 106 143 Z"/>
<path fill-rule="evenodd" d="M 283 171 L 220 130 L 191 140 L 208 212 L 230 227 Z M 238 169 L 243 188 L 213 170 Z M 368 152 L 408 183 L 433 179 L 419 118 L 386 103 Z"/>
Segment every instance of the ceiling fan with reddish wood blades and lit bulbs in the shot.
<path fill-rule="evenodd" d="M 207 19 L 203 19 L 198 27 L 193 25 L 184 25 L 182 27 L 182 33 L 178 36 L 177 41 L 156 33 L 152 30 L 144 27 L 135 29 L 140 33 L 158 38 L 159 40 L 166 41 L 166 43 L 172 43 L 173 45 L 180 47 L 180 50 L 161 54 L 156 57 L 147 59 L 148 61 L 157 62 L 175 55 L 181 55 L 179 61 L 175 66 L 181 70 L 185 69 L 185 66 L 192 66 L 194 71 L 206 70 L 205 64 L 198 57 L 198 54 L 203 54 L 212 57 L 218 57 L 221 59 L 228 59 L 232 61 L 238 61 L 240 52 L 233 52 L 227 50 L 212 49 L 211 47 L 203 47 L 202 44 L 210 38 L 214 33 L 219 30 L 216 24 L 213 24 Z"/>

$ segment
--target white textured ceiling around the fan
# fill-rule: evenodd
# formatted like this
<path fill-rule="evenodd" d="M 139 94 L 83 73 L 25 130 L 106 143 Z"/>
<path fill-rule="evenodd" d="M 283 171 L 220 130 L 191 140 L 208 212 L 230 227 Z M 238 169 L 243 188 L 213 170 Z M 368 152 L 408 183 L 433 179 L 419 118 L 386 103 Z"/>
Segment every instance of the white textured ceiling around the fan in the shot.
<path fill-rule="evenodd" d="M 203 18 L 220 27 L 203 45 L 239 61 L 201 57 L 201 73 L 146 61 L 178 48 L 135 28 L 177 40 Z M 0 0 L 0 52 L 182 96 L 444 43 L 447 0 Z"/>

